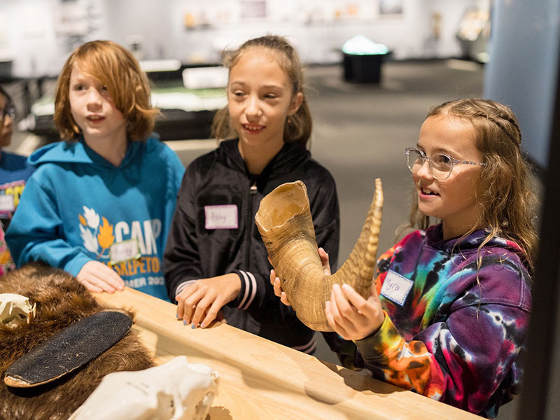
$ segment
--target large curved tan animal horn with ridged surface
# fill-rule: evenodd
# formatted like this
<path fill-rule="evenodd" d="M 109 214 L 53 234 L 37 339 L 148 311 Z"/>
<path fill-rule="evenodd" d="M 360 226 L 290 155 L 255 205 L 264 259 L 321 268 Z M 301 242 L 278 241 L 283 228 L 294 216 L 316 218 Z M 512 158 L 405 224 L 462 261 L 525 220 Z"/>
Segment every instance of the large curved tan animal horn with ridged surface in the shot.
<path fill-rule="evenodd" d="M 356 245 L 342 267 L 325 275 L 318 256 L 307 188 L 302 181 L 276 187 L 261 202 L 255 222 L 282 289 L 300 321 L 317 331 L 332 331 L 325 316 L 325 301 L 332 285 L 348 283 L 367 298 L 375 268 L 383 190 L 375 193 Z"/>

